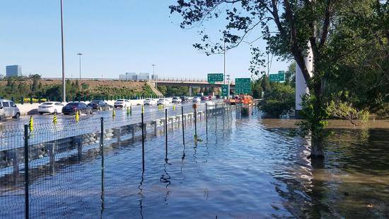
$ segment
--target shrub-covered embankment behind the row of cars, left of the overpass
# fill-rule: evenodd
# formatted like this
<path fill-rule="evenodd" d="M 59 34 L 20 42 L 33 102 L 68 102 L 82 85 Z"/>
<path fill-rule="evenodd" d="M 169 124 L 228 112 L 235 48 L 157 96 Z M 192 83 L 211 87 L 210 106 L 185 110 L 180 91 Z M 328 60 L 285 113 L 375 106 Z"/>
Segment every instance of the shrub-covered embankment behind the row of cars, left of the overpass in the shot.
<path fill-rule="evenodd" d="M 28 78 L 11 77 L 0 81 L 0 96 L 14 99 L 17 103 L 33 98 L 33 100 L 50 99 L 61 101 L 62 84 L 60 80 L 42 80 L 40 75 Z M 66 96 L 69 100 L 115 99 L 132 96 L 156 95 L 146 82 L 113 82 L 67 79 Z"/>

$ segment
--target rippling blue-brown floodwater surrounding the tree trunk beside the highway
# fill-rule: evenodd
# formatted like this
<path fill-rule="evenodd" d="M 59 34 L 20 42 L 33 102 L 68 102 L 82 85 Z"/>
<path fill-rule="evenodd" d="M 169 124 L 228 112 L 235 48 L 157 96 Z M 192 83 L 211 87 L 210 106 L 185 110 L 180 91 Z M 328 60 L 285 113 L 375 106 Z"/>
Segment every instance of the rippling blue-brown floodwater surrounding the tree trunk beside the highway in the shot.
<path fill-rule="evenodd" d="M 30 216 L 389 218 L 385 121 L 381 128 L 335 124 L 323 162 L 306 158 L 310 141 L 294 134 L 291 120 L 232 113 L 208 122 L 208 134 L 204 120 L 197 124 L 196 142 L 193 123 L 185 126 L 185 148 L 181 128 L 170 130 L 167 162 L 163 133 L 148 135 L 143 174 L 139 141 L 107 148 L 103 196 L 98 155 L 60 165 L 30 185 Z"/>

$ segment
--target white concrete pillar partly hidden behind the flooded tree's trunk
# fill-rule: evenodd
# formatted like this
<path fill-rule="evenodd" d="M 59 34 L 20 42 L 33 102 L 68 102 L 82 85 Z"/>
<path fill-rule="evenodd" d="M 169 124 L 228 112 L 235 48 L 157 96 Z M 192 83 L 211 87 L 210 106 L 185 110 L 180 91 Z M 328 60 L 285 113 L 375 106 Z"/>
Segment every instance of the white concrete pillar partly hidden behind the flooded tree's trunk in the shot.
<path fill-rule="evenodd" d="M 313 72 L 313 52 L 310 47 L 310 43 L 308 42 L 308 53 L 307 56 L 304 57 L 304 63 L 306 64 L 306 68 L 312 76 Z M 306 80 L 304 79 L 303 72 L 301 68 L 296 64 L 296 116 L 298 116 L 298 111 L 301 111 L 301 101 L 302 96 L 308 94 L 308 86 L 306 85 Z"/>

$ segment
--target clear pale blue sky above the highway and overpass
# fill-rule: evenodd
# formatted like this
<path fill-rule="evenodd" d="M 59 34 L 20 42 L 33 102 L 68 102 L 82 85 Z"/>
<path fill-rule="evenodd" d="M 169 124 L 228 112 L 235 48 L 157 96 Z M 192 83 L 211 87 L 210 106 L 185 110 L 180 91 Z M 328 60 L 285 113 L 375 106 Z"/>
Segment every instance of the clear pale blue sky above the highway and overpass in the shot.
<path fill-rule="evenodd" d="M 223 72 L 223 57 L 194 49 L 197 29 L 182 30 L 170 16 L 172 0 L 64 0 L 66 77 L 117 78 L 124 72 L 152 72 L 165 77 L 206 77 Z M 209 23 L 216 30 L 221 21 Z M 0 2 L 0 74 L 8 64 L 21 64 L 23 74 L 61 77 L 59 0 Z M 218 36 L 219 38 L 219 36 Z M 264 46 L 262 42 L 260 45 Z M 227 53 L 227 73 L 250 77 L 250 47 Z M 275 59 L 274 59 L 275 60 Z M 273 62 L 271 72 L 286 69 Z"/>

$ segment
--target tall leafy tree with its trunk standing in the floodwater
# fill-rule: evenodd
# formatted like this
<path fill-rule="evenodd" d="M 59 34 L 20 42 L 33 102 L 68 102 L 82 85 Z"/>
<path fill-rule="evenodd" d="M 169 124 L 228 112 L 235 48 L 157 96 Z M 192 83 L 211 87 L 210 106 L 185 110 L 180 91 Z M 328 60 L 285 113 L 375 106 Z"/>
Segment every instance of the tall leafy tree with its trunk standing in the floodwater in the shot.
<path fill-rule="evenodd" d="M 366 11 L 370 14 L 366 15 Z M 221 16 L 226 18 L 219 41 L 226 43 L 227 49 L 237 47 L 250 35 L 256 35 L 257 39 L 267 41 L 266 52 L 284 60 L 295 60 L 310 91 L 307 96 L 310 100 L 304 101 L 307 104 L 303 106 L 307 113 L 311 109 L 310 118 L 303 125 L 312 134 L 313 147 L 317 147 L 311 150 L 310 157 L 320 158 L 324 157 L 322 133 L 327 119 L 323 101 L 324 78 L 336 69 L 339 60 L 368 47 L 372 40 L 381 39 L 383 44 L 388 42 L 389 28 L 384 22 L 388 21 L 386 12 L 388 1 L 378 0 L 178 0 L 177 4 L 170 6 L 170 13 L 182 16 L 181 28 L 202 27 L 204 21 Z M 368 38 L 355 43 L 356 35 L 364 33 L 356 30 L 364 30 L 371 24 L 373 28 L 369 29 Z M 338 29 L 344 27 L 354 31 L 337 35 Z M 199 33 L 202 43 L 195 43 L 194 47 L 205 50 L 207 55 L 223 52 L 223 43 L 212 43 L 205 30 Z M 310 50 L 313 72 L 308 71 L 309 62 L 305 60 Z M 254 47 L 252 63 L 264 66 L 266 52 Z"/>

